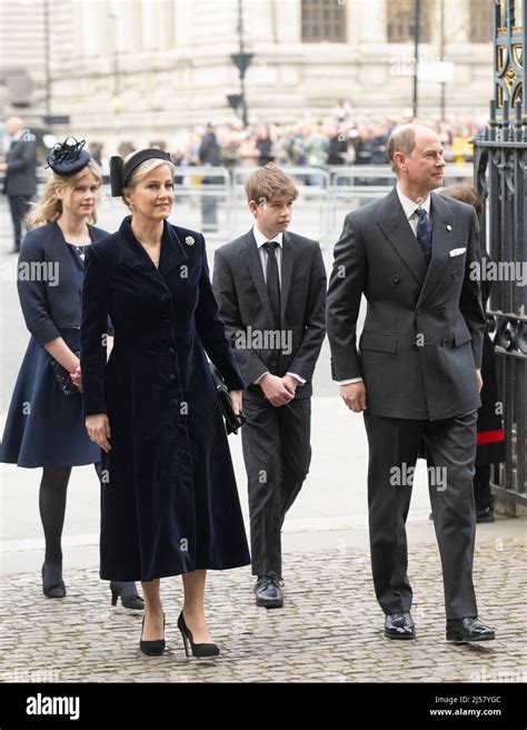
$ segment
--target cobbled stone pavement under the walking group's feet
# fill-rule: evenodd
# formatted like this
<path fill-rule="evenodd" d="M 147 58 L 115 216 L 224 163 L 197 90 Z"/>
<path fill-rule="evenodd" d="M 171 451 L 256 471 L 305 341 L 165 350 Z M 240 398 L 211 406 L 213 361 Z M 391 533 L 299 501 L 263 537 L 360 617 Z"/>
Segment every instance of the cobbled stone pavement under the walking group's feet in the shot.
<path fill-rule="evenodd" d="M 34 572 L 4 575 L 0 682 L 525 682 L 525 526 L 478 526 L 475 581 L 495 642 L 445 642 L 440 563 L 422 523 L 409 526 L 416 641 L 382 637 L 367 550 L 336 532 L 335 548 L 314 537 L 311 549 L 286 554 L 282 610 L 252 603 L 248 568 L 209 573 L 208 618 L 222 652 L 213 660 L 185 657 L 178 578 L 162 581 L 167 651 L 153 658 L 139 651 L 142 613 L 111 608 L 96 566 L 68 570 L 61 601 L 42 595 Z"/>

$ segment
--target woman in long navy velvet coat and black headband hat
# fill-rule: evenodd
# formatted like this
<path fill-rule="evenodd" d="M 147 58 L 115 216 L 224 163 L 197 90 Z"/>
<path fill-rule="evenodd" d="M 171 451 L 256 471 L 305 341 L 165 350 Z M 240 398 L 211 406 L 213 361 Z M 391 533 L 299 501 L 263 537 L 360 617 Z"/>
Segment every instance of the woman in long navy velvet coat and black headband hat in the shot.
<path fill-rule="evenodd" d="M 219 653 L 206 571 L 249 564 L 226 430 L 203 352 L 235 408 L 243 382 L 212 294 L 201 234 L 167 221 L 173 166 L 160 150 L 112 158 L 112 195 L 131 210 L 90 247 L 82 294 L 86 425 L 103 450 L 101 578 L 141 580 L 140 648 L 165 650 L 159 579 L 183 576 L 178 625 L 195 655 Z M 110 315 L 115 345 L 105 362 Z"/>

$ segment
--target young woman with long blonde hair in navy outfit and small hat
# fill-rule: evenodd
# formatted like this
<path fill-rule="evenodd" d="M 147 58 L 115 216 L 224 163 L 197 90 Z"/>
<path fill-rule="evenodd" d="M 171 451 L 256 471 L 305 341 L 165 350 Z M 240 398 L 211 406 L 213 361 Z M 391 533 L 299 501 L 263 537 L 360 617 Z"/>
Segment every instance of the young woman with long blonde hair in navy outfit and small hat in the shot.
<path fill-rule="evenodd" d="M 95 464 L 100 473 L 100 450 L 89 440 L 82 418 L 80 298 L 86 251 L 108 233 L 93 226 L 101 174 L 83 142 L 68 144 L 67 139 L 57 145 L 48 162 L 53 175 L 41 203 L 28 216 L 31 230 L 19 258 L 18 292 L 31 338 L 11 398 L 0 456 L 4 463 L 42 468 L 42 591 L 50 599 L 60 599 L 66 595 L 61 535 L 71 468 Z M 64 368 L 68 396 L 53 361 Z M 143 608 L 133 583 L 113 582 L 110 588 L 113 605 L 121 596 L 126 608 Z"/>

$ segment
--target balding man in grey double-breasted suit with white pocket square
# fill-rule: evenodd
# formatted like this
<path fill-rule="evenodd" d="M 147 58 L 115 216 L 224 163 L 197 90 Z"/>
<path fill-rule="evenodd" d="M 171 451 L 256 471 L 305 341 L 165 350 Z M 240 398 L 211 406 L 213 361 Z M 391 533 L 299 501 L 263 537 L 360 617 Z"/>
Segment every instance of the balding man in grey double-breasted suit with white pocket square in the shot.
<path fill-rule="evenodd" d="M 432 130 L 395 129 L 388 157 L 397 186 L 346 217 L 327 298 L 332 376 L 347 406 L 364 412 L 368 435 L 374 584 L 385 635 L 414 639 L 405 525 L 424 443 L 446 637 L 485 641 L 495 634 L 477 618 L 473 584 L 471 483 L 486 324 L 474 276 L 478 221 L 470 206 L 432 193 L 445 167 Z M 368 306 L 358 349 L 362 294 Z"/>

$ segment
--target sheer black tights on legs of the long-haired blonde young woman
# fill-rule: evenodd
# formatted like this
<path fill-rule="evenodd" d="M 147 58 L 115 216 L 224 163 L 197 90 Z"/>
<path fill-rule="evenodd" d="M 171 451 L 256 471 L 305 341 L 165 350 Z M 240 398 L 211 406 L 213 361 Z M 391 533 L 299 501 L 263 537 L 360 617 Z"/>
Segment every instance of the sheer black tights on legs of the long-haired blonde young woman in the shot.
<path fill-rule="evenodd" d="M 101 465 L 95 464 L 100 479 Z M 46 561 L 62 562 L 62 527 L 71 466 L 44 466 L 40 482 L 39 509 L 46 540 Z"/>

